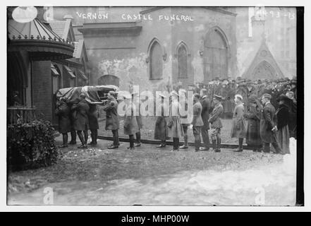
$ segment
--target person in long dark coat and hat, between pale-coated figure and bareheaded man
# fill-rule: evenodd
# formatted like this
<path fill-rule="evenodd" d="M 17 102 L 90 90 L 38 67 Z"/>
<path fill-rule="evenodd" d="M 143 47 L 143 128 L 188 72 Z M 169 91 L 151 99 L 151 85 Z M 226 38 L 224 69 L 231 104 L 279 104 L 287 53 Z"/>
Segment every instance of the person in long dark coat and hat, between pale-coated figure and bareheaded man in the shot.
<path fill-rule="evenodd" d="M 254 152 L 260 152 L 262 148 L 262 138 L 260 137 L 260 114 L 262 105 L 256 95 L 248 97 L 247 113 L 244 114 L 248 120 L 248 129 L 246 130 L 246 143 L 252 146 Z"/>

